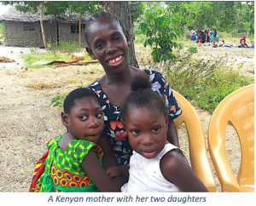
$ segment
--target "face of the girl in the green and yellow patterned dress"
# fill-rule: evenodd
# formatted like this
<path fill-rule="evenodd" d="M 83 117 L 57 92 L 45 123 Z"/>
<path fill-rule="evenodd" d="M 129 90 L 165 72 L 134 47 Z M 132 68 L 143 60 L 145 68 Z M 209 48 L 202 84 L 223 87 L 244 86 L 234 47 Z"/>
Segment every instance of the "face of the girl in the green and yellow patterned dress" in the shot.
<path fill-rule="evenodd" d="M 79 140 L 95 142 L 104 127 L 102 107 L 92 97 L 82 97 L 72 106 L 68 114 L 61 113 L 62 123 Z"/>

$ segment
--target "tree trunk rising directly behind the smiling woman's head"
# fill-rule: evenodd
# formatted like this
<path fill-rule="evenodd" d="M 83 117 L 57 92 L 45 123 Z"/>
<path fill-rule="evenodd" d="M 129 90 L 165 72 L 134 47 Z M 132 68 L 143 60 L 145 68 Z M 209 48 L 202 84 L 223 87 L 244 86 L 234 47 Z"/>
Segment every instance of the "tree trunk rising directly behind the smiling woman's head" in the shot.
<path fill-rule="evenodd" d="M 131 20 L 130 8 L 128 2 L 101 2 L 106 11 L 119 17 L 125 26 L 125 30 L 129 32 L 129 63 L 131 66 L 139 67 L 137 64 L 134 44 L 133 44 L 133 22 Z"/>

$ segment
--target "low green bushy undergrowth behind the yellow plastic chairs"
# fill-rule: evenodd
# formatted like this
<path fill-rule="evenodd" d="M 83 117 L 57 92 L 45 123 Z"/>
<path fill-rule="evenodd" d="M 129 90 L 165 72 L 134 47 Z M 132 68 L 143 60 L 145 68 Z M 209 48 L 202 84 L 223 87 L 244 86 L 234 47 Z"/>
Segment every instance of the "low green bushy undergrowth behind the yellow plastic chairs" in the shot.
<path fill-rule="evenodd" d="M 254 79 L 224 68 L 224 60 L 215 62 L 194 60 L 192 54 L 152 64 L 150 69 L 164 68 L 170 87 L 182 94 L 194 106 L 213 112 L 225 96 L 236 89 L 254 83 Z M 224 69 L 223 69 L 224 68 Z"/>

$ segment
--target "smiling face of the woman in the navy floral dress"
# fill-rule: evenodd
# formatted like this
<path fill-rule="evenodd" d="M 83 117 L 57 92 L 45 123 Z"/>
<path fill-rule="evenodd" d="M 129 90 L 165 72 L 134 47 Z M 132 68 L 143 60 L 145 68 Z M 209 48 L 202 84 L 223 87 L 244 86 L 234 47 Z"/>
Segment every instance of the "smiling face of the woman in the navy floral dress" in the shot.
<path fill-rule="evenodd" d="M 92 59 L 97 59 L 106 72 L 121 72 L 128 61 L 128 34 L 111 18 L 100 18 L 88 29 L 90 48 L 86 48 Z"/>

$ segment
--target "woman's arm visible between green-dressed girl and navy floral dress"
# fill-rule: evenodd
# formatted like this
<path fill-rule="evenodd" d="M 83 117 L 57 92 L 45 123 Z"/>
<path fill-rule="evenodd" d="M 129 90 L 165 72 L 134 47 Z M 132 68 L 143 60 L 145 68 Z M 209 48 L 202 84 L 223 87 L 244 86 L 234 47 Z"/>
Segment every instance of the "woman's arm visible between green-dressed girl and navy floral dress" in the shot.
<path fill-rule="evenodd" d="M 109 145 L 108 138 L 102 137 L 97 141 L 97 145 L 102 147 L 104 156 L 102 157 L 102 167 L 103 169 L 108 169 L 109 167 L 118 166 L 118 163 L 113 156 L 113 151 Z"/>

